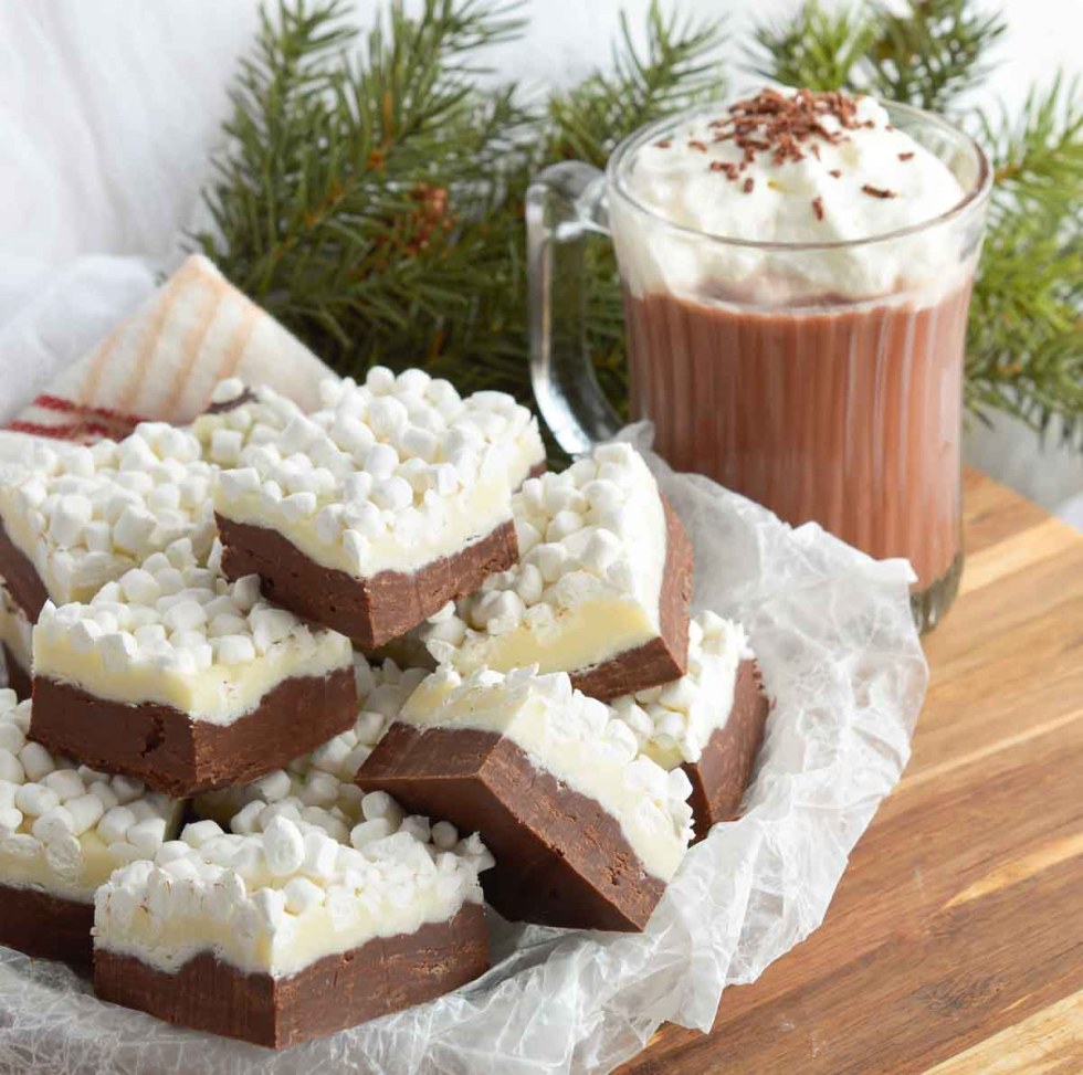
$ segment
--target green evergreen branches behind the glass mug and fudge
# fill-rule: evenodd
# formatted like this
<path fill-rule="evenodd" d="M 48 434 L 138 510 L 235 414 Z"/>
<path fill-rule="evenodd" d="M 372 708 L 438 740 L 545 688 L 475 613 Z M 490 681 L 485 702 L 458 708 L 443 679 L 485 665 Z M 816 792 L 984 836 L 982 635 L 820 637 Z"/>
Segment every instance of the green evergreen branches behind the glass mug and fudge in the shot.
<path fill-rule="evenodd" d="M 412 10 L 412 9 L 411 9 Z M 645 44 L 621 21 L 610 63 L 537 99 L 485 88 L 485 50 L 522 32 L 516 3 L 401 0 L 360 34 L 345 0 L 278 0 L 233 88 L 229 144 L 197 236 L 242 289 L 344 373 L 423 365 L 464 390 L 529 397 L 523 201 L 555 160 L 601 165 L 656 116 L 722 94 L 718 19 L 663 15 Z M 828 12 L 807 2 L 760 28 L 750 65 L 788 84 L 850 86 L 939 110 L 989 67 L 1003 20 L 976 0 Z M 967 401 L 1083 444 L 1079 241 L 1083 101 L 1056 83 L 1016 120 L 982 116 L 997 185 L 976 285 Z M 588 246 L 589 344 L 627 394 L 619 281 Z"/>

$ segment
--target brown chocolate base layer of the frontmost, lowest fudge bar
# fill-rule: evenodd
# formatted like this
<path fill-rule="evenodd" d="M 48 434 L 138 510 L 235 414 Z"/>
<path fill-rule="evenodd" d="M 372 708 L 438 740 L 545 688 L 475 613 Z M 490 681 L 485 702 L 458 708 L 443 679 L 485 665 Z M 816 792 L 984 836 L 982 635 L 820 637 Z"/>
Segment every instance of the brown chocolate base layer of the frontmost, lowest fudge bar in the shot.
<path fill-rule="evenodd" d="M 484 910 L 466 904 L 449 921 L 325 956 L 288 978 L 245 973 L 210 952 L 170 974 L 98 949 L 94 990 L 170 1023 L 287 1048 L 432 1000 L 486 970 Z"/>

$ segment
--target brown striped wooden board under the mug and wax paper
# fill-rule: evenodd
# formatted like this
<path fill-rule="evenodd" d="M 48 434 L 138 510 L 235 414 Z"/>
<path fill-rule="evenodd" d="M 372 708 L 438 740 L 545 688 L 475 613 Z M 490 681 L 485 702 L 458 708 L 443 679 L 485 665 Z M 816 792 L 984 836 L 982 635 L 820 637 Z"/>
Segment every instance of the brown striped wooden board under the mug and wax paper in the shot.
<path fill-rule="evenodd" d="M 1083 1073 L 1083 536 L 965 486 L 913 759 L 823 926 L 622 1075 Z"/>

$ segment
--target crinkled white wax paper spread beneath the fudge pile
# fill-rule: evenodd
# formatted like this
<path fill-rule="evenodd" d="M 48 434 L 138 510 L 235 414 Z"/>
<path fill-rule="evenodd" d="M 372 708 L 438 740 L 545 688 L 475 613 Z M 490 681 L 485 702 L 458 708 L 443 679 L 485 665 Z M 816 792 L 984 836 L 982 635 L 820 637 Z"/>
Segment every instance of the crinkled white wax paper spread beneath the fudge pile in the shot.
<path fill-rule="evenodd" d="M 625 436 L 644 442 L 649 431 Z M 696 551 L 696 609 L 740 620 L 775 699 L 739 821 L 693 847 L 642 935 L 493 919 L 493 970 L 456 993 L 281 1053 L 97 1001 L 66 968 L 0 949 L 0 1071 L 63 1075 L 608 1072 L 665 1020 L 709 1029 L 820 924 L 906 763 L 927 668 L 904 561 L 651 457 Z"/>

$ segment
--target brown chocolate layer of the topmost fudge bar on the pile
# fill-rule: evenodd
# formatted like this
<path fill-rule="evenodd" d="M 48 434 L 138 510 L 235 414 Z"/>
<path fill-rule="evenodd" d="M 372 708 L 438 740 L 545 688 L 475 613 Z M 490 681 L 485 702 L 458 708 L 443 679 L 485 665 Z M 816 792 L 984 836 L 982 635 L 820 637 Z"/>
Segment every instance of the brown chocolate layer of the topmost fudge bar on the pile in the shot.
<path fill-rule="evenodd" d="M 221 515 L 217 519 L 227 576 L 259 575 L 270 600 L 347 635 L 366 650 L 406 634 L 518 559 L 515 527 L 504 523 L 454 556 L 425 563 L 413 573 L 380 571 L 370 578 L 354 578 L 311 560 L 275 530 Z"/>

